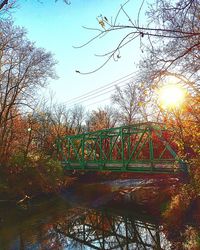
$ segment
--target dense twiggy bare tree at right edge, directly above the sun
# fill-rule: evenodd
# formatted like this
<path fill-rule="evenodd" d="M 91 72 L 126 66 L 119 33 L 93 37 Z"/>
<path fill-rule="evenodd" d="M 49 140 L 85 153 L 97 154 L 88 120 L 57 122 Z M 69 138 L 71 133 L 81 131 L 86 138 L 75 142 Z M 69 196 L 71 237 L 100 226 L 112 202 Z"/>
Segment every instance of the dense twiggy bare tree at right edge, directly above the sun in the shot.
<path fill-rule="evenodd" d="M 200 2 L 196 0 L 176 1 L 176 4 L 160 0 L 151 7 L 150 21 L 156 20 L 162 36 L 148 36 L 148 45 L 143 45 L 146 53 L 140 62 L 140 74 L 149 85 L 159 85 L 163 79 L 173 76 L 199 94 L 199 10 Z"/>

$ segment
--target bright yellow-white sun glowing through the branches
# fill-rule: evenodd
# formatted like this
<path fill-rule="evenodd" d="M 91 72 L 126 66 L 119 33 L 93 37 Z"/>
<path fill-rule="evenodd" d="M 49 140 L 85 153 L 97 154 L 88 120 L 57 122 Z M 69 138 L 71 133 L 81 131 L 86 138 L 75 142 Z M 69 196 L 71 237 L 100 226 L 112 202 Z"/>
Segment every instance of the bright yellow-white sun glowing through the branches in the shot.
<path fill-rule="evenodd" d="M 185 99 L 185 90 L 178 84 L 165 85 L 158 91 L 162 108 L 180 108 Z"/>

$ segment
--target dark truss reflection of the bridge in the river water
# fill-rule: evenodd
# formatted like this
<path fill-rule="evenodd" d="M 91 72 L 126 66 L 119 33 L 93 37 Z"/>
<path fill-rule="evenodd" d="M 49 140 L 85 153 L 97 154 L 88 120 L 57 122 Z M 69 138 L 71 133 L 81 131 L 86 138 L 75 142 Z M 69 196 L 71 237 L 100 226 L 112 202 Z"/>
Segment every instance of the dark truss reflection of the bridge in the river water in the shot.
<path fill-rule="evenodd" d="M 134 215 L 83 210 L 54 227 L 66 249 L 170 249 L 162 227 Z"/>

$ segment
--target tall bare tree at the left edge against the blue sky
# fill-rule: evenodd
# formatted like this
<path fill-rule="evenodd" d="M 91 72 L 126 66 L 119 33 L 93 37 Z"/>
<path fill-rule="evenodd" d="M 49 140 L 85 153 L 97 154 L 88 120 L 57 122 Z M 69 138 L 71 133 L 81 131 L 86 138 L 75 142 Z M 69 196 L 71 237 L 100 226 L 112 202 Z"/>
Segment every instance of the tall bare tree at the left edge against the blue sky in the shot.
<path fill-rule="evenodd" d="M 11 21 L 0 21 L 0 156 L 3 159 L 12 121 L 31 108 L 38 88 L 55 78 L 51 53 L 36 48 L 24 29 Z M 11 143 L 11 142 L 10 142 Z"/>

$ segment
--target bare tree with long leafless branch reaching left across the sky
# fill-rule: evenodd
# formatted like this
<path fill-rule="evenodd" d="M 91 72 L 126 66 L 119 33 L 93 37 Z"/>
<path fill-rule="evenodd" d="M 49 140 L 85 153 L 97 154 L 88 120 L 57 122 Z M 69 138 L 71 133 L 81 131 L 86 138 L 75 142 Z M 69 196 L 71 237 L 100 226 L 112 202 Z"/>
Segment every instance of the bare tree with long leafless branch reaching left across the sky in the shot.
<path fill-rule="evenodd" d="M 177 0 L 173 2 L 156 0 L 151 5 L 148 5 L 148 2 L 150 1 L 141 1 L 138 15 L 131 16 L 128 13 L 127 5 L 134 4 L 134 1 L 126 1 L 125 4 L 121 5 L 114 18 L 108 19 L 101 15 L 98 17 L 99 27 L 85 27 L 96 31 L 97 35 L 76 48 L 82 48 L 95 39 L 103 39 L 106 35 L 112 33 L 120 33 L 121 31 L 125 33 L 119 38 L 116 47 L 98 55 L 105 57 L 105 62 L 99 68 L 85 73 L 93 73 L 99 70 L 111 59 L 119 60 L 122 48 L 136 39 L 140 41 L 142 52 L 151 51 L 152 62 L 159 61 L 159 71 L 170 70 L 174 65 L 180 63 L 188 72 L 191 70 L 191 64 L 194 65 L 194 63 L 195 69 L 194 66 L 193 69 L 196 72 L 199 70 L 199 0 Z M 144 22 L 141 20 L 140 14 L 145 4 L 149 8 L 146 11 L 146 20 Z M 125 19 L 120 19 L 121 15 Z"/>

